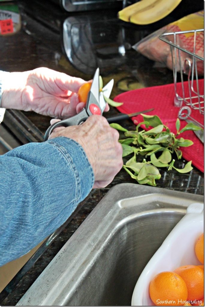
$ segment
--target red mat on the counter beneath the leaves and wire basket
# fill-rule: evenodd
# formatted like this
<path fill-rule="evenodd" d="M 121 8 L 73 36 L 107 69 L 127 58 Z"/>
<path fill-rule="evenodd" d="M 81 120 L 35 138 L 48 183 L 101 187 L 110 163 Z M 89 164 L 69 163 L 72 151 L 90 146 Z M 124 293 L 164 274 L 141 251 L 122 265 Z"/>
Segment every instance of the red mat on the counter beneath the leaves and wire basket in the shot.
<path fill-rule="evenodd" d="M 193 85 L 195 88 L 195 81 Z M 188 81 L 184 82 L 184 91 L 185 97 L 189 97 L 190 95 Z M 199 92 L 201 95 L 204 94 L 204 80 L 202 79 L 199 80 Z M 177 93 L 181 97 L 183 96 L 181 83 L 177 83 Z M 128 91 L 116 96 L 114 101 L 123 102 L 123 105 L 118 107 L 118 110 L 126 114 L 154 108 L 153 111 L 147 114 L 159 116 L 164 125 L 167 125 L 173 133 L 176 133 L 175 123 L 178 117 L 179 108 L 174 106 L 174 97 L 174 84 L 167 84 Z M 199 110 L 191 109 L 190 116 L 196 119 L 198 122 L 202 124 L 204 123 L 204 117 L 202 114 L 199 113 Z M 134 124 L 137 125 L 139 122 L 143 121 L 143 118 L 141 115 L 138 115 L 136 117 L 133 117 L 132 120 Z M 180 122 L 180 128 L 183 128 L 187 124 L 184 120 L 180 120 Z M 190 139 L 194 142 L 192 146 L 180 148 L 182 150 L 182 156 L 187 161 L 192 160 L 192 164 L 203 172 L 203 143 L 199 140 L 199 138 L 197 138 L 193 131 L 183 132 L 182 137 L 185 139 Z"/>

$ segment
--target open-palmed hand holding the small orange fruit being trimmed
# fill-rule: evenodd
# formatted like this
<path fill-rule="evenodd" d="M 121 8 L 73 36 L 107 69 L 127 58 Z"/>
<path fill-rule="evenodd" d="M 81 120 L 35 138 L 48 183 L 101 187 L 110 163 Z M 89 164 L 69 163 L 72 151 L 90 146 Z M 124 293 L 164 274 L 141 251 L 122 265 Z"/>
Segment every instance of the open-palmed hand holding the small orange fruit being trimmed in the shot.
<path fill-rule="evenodd" d="M 75 115 L 84 106 L 77 92 L 86 81 L 49 68 L 6 73 L 2 82 L 1 107 L 6 109 L 35 111 L 62 119 Z M 105 111 L 108 110 L 106 105 Z"/>

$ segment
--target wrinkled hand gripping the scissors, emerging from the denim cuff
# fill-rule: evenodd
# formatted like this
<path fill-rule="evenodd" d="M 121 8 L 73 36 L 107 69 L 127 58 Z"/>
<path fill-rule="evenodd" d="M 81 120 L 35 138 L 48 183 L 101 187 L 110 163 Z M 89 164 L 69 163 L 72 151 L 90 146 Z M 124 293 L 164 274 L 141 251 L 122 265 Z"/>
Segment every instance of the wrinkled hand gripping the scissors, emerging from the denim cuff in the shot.
<path fill-rule="evenodd" d="M 59 127 L 49 139 L 58 136 L 72 138 L 84 149 L 95 175 L 93 188 L 108 185 L 123 165 L 119 133 L 101 115 L 92 115 L 79 126 Z"/>

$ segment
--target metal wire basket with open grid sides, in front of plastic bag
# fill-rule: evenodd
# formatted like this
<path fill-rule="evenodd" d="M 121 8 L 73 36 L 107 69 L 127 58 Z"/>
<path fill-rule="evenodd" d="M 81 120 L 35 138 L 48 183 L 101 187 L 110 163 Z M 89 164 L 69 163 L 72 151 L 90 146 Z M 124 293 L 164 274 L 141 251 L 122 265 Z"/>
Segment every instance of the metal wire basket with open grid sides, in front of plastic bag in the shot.
<path fill-rule="evenodd" d="M 192 109 L 199 110 L 200 114 L 204 114 L 204 95 L 199 93 L 199 79 L 198 79 L 198 71 L 197 64 L 198 60 L 204 61 L 204 58 L 197 55 L 196 53 L 196 37 L 199 35 L 199 32 L 204 32 L 204 29 L 191 30 L 191 31 L 180 31 L 180 32 L 171 32 L 164 33 L 159 38 L 168 43 L 171 48 L 172 55 L 172 66 L 173 66 L 173 77 L 174 77 L 174 88 L 175 88 L 175 99 L 174 105 L 176 107 L 182 107 L 183 103 L 188 105 Z M 185 33 L 194 33 L 194 45 L 193 52 L 192 50 L 186 50 L 180 46 L 180 34 Z M 182 58 L 185 56 L 184 63 L 182 63 Z M 181 87 L 182 87 L 182 97 L 178 94 L 177 89 L 179 91 L 179 86 L 176 86 L 177 76 L 181 78 Z M 184 92 L 184 76 L 188 75 L 188 88 L 189 88 L 189 96 L 185 97 Z M 187 79 L 187 77 L 186 77 Z M 195 82 L 194 82 L 195 80 Z"/>

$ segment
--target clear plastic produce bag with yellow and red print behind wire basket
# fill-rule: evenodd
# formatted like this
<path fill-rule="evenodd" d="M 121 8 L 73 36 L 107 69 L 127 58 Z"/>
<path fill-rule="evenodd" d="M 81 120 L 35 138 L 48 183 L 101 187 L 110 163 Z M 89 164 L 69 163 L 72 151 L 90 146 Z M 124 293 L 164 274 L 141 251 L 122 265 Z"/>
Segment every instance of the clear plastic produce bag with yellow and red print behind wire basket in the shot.
<path fill-rule="evenodd" d="M 190 14 L 185 16 L 177 21 L 174 21 L 163 28 L 149 34 L 147 37 L 143 38 L 137 44 L 133 46 L 133 48 L 148 57 L 150 60 L 157 61 L 160 63 L 164 63 L 169 69 L 172 69 L 172 54 L 170 45 L 161 41 L 159 36 L 163 33 L 172 33 L 172 32 L 180 32 L 180 31 L 190 31 L 196 29 L 203 29 L 204 25 L 204 11 L 199 11 L 194 14 Z M 174 43 L 174 36 L 168 35 L 168 40 Z M 196 42 L 195 42 L 195 50 L 194 50 L 194 33 L 183 33 L 178 34 L 176 36 L 177 41 L 176 44 L 186 49 L 190 52 L 194 52 L 200 57 L 204 57 L 204 34 L 203 32 L 197 32 Z M 176 53 L 176 57 L 178 57 L 178 53 Z M 180 60 L 181 63 L 187 58 L 191 58 L 188 56 L 186 52 L 180 52 Z M 175 59 L 174 59 L 175 60 Z M 177 58 L 177 71 L 179 71 L 179 59 Z M 203 75 L 203 61 L 197 60 L 197 72 L 198 75 Z"/>

